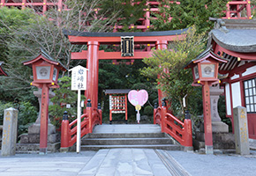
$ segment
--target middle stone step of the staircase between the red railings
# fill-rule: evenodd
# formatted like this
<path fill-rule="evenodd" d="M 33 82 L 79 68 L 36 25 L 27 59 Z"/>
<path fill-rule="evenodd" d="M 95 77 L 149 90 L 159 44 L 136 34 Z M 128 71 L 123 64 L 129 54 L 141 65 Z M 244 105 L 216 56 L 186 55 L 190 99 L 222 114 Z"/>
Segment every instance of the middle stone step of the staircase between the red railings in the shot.
<path fill-rule="evenodd" d="M 173 144 L 168 137 L 154 138 L 87 138 L 82 145 L 136 145 L 136 144 Z"/>

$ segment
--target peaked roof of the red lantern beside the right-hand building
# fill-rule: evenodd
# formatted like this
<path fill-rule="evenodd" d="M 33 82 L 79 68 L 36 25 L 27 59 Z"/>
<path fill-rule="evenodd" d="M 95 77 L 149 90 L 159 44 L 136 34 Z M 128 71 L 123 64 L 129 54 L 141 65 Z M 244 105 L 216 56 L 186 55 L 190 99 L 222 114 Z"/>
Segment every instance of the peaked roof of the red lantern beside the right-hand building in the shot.
<path fill-rule="evenodd" d="M 215 55 L 215 53 L 213 52 L 212 48 L 207 48 L 206 50 L 204 50 L 203 52 L 200 53 L 200 55 L 198 55 L 195 59 L 193 59 L 191 62 L 187 63 L 186 66 L 184 67 L 184 69 L 190 69 L 193 67 L 193 65 L 195 65 L 198 62 L 202 62 L 204 60 L 207 60 L 209 57 L 211 57 L 212 59 L 214 59 L 217 62 L 228 62 L 227 59 L 224 59 L 218 55 Z"/>

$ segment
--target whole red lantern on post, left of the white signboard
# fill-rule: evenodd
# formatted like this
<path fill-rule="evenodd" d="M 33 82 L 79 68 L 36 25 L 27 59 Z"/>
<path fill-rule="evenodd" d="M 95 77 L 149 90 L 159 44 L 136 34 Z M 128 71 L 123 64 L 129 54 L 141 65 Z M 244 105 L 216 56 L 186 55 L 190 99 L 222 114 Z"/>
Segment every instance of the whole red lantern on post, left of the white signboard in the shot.
<path fill-rule="evenodd" d="M 41 88 L 41 127 L 40 127 L 40 153 L 47 153 L 48 116 L 49 116 L 49 88 L 58 88 L 57 77 L 59 70 L 66 70 L 60 62 L 54 61 L 41 50 L 41 54 L 33 60 L 23 62 L 32 66 L 34 81 L 31 85 Z"/>

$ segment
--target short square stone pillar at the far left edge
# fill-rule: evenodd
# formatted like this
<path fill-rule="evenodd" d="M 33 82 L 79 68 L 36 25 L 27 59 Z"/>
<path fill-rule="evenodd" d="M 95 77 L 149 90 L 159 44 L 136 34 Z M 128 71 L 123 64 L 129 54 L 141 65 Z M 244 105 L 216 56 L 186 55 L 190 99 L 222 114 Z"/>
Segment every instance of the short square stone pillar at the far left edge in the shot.
<path fill-rule="evenodd" d="M 18 128 L 18 110 L 12 107 L 4 110 L 2 156 L 15 155 Z"/>

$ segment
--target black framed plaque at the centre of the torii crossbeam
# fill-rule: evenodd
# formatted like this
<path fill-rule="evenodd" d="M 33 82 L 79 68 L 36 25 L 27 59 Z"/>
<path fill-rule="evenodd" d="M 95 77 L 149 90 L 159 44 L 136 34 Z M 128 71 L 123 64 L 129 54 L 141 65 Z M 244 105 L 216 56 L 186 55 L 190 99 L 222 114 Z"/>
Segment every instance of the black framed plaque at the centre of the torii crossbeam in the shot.
<path fill-rule="evenodd" d="M 134 56 L 134 40 L 133 36 L 121 36 L 121 55 Z"/>

